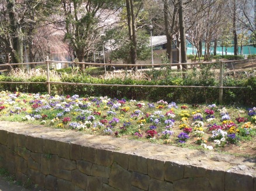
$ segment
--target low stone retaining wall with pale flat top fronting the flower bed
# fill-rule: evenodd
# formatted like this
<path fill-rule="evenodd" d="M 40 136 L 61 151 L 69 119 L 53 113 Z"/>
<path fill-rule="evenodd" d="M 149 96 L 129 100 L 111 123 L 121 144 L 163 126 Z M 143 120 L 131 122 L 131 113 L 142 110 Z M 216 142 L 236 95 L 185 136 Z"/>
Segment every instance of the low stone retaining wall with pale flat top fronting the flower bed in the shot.
<path fill-rule="evenodd" d="M 255 160 L 0 121 L 0 168 L 46 190 L 250 190 Z"/>

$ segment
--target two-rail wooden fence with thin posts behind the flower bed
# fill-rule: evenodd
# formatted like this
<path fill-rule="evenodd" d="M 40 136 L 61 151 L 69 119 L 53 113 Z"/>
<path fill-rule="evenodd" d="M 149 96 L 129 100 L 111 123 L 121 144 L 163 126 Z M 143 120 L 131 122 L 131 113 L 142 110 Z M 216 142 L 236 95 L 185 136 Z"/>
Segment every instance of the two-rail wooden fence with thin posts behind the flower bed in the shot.
<path fill-rule="evenodd" d="M 5 66 L 13 66 L 13 65 L 31 65 L 31 64 L 45 64 L 47 66 L 47 81 L 46 82 L 0 82 L 1 83 L 10 83 L 10 84 L 46 84 L 48 94 L 51 94 L 51 84 L 63 84 L 63 85 L 71 85 L 71 86 L 119 86 L 119 87 L 174 87 L 174 88 L 216 88 L 219 89 L 219 103 L 222 104 L 223 98 L 223 89 L 245 89 L 246 87 L 225 87 L 223 86 L 223 64 L 224 63 L 236 63 L 236 62 L 249 62 L 248 60 L 240 60 L 240 61 L 216 61 L 216 62 L 191 62 L 191 63 L 161 63 L 161 64 L 113 64 L 113 63 L 90 63 L 90 62 L 67 62 L 67 61 L 49 61 L 48 58 L 44 62 L 30 62 L 30 63 L 11 63 L 11 64 L 3 64 Z M 200 65 L 200 64 L 210 64 L 210 63 L 219 63 L 220 64 L 220 76 L 219 76 L 219 86 L 165 86 L 165 85 L 132 85 L 132 84 L 94 84 L 94 83 L 71 83 L 71 82 L 51 82 L 50 81 L 50 63 L 74 63 L 76 65 L 92 65 L 92 66 L 177 66 L 177 65 Z M 252 63 L 252 60 L 251 60 Z M 253 63 L 252 63 L 253 68 Z"/>

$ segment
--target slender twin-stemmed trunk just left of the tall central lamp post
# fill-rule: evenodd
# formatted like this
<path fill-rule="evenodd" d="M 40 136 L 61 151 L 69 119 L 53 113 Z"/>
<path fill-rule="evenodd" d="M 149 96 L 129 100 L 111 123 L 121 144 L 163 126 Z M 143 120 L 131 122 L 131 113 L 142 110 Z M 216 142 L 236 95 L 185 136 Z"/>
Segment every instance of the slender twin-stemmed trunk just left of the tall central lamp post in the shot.
<path fill-rule="evenodd" d="M 135 15 L 133 9 L 133 0 L 126 0 L 126 9 L 127 9 L 127 21 L 128 21 L 128 28 L 129 28 L 129 38 L 132 42 L 130 47 L 130 58 L 131 63 L 136 64 L 137 60 L 137 39 L 136 39 L 136 22 L 135 22 Z M 138 67 L 135 66 L 133 68 L 134 71 L 137 71 Z"/>

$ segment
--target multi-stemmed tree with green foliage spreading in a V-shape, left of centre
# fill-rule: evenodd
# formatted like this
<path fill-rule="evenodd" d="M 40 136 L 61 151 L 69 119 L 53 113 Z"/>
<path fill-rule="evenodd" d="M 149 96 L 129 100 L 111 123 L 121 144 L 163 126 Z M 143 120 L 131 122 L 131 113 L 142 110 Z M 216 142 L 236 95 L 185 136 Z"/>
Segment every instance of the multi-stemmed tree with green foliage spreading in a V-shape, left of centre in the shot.
<path fill-rule="evenodd" d="M 74 49 L 79 62 L 88 60 L 91 47 L 103 33 L 105 20 L 119 4 L 118 0 L 61 1 L 64 15 L 60 15 L 60 20 L 64 17 L 65 40 Z"/>

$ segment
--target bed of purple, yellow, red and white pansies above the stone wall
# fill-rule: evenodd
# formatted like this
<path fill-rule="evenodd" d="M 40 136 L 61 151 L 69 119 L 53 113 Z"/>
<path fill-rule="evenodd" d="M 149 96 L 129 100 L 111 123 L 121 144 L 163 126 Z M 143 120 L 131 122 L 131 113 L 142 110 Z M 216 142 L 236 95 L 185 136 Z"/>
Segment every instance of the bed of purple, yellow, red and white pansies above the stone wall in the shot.
<path fill-rule="evenodd" d="M 40 123 L 94 135 L 129 137 L 208 150 L 250 144 L 255 154 L 256 108 L 184 105 L 79 95 L 0 93 L 0 120 Z M 236 149 L 231 149 L 236 147 Z M 227 149 L 230 148 L 230 149 Z M 241 149 L 245 150 L 245 149 Z M 232 151 L 231 151 L 232 152 Z"/>

